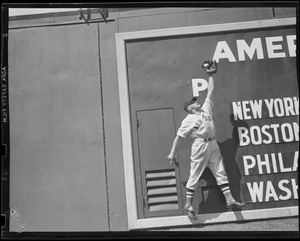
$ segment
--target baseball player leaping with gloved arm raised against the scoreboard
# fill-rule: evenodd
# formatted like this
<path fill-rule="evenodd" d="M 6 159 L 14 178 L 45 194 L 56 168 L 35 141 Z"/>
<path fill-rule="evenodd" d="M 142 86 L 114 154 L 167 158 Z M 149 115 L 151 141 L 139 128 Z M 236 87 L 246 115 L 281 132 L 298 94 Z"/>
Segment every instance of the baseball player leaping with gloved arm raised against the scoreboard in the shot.
<path fill-rule="evenodd" d="M 184 110 L 188 112 L 188 115 L 182 121 L 173 141 L 171 152 L 167 157 L 170 165 L 172 165 L 175 161 L 175 150 L 179 142 L 190 134 L 194 141 L 191 147 L 191 168 L 186 184 L 186 204 L 184 210 L 189 218 L 195 220 L 197 217 L 193 209 L 193 197 L 198 181 L 206 167 L 210 168 L 216 178 L 217 184 L 226 198 L 227 208 L 240 208 L 245 205 L 245 203 L 237 202 L 231 194 L 228 177 L 224 169 L 223 157 L 215 140 L 212 94 L 214 90 L 213 74 L 217 72 L 217 63 L 206 60 L 202 64 L 202 67 L 209 76 L 206 99 L 202 106 L 197 102 L 196 97 L 184 103 Z"/>

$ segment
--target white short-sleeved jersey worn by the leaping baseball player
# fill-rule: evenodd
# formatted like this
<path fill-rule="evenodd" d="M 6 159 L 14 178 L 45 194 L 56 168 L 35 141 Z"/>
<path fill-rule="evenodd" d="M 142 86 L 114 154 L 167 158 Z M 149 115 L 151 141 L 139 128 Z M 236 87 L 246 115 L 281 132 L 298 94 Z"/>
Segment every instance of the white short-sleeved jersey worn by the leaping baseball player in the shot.
<path fill-rule="evenodd" d="M 215 137 L 212 105 L 211 100 L 206 98 L 201 108 L 201 114 L 188 114 L 182 121 L 177 135 L 185 138 L 190 134 L 194 139 Z"/>

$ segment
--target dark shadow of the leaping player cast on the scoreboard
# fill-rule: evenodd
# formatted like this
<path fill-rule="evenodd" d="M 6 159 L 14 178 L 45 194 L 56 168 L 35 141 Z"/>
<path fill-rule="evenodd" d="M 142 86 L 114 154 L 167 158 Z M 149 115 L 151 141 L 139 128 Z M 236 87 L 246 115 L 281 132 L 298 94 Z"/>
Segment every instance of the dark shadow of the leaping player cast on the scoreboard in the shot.
<path fill-rule="evenodd" d="M 249 125 L 245 121 L 235 120 L 233 114 L 229 116 L 229 119 L 233 126 L 232 135 L 226 141 L 218 142 L 218 145 L 223 156 L 232 195 L 240 202 L 241 174 L 236 163 L 236 153 L 239 144 L 238 127 L 248 128 Z M 217 186 L 216 180 L 209 168 L 206 168 L 203 172 L 200 179 L 201 183 L 202 201 L 199 204 L 199 213 L 226 212 L 225 197 L 219 186 Z"/>

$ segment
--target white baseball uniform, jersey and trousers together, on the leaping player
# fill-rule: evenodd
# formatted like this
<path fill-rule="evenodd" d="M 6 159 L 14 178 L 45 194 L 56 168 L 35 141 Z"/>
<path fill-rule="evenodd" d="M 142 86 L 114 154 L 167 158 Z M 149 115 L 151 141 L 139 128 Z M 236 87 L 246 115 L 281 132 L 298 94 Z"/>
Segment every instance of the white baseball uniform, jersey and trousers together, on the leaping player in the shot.
<path fill-rule="evenodd" d="M 194 139 L 191 147 L 191 169 L 186 187 L 197 189 L 198 181 L 208 166 L 216 178 L 217 184 L 227 184 L 223 157 L 215 140 L 212 102 L 205 99 L 201 114 L 188 114 L 182 121 L 177 135 L 185 138 L 187 134 Z"/>

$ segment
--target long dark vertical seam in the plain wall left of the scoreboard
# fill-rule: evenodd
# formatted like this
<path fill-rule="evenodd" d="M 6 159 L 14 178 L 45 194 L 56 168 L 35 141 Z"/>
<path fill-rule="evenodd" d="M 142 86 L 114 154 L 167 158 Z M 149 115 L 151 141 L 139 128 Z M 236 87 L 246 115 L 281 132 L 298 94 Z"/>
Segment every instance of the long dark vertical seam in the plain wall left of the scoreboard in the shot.
<path fill-rule="evenodd" d="M 108 188 L 108 175 L 107 175 L 107 159 L 106 159 L 106 142 L 105 142 L 105 127 L 104 127 L 104 104 L 103 104 L 103 82 L 102 82 L 102 68 L 101 68 L 101 45 L 100 45 L 100 27 L 97 23 L 98 34 L 98 58 L 99 58 L 99 79 L 100 79 L 100 99 L 101 99 L 101 112 L 102 112 L 102 133 L 103 133 L 103 155 L 104 155 L 104 174 L 106 185 L 106 203 L 107 203 L 107 223 L 108 231 L 110 231 L 110 210 L 109 210 L 109 188 Z"/>

